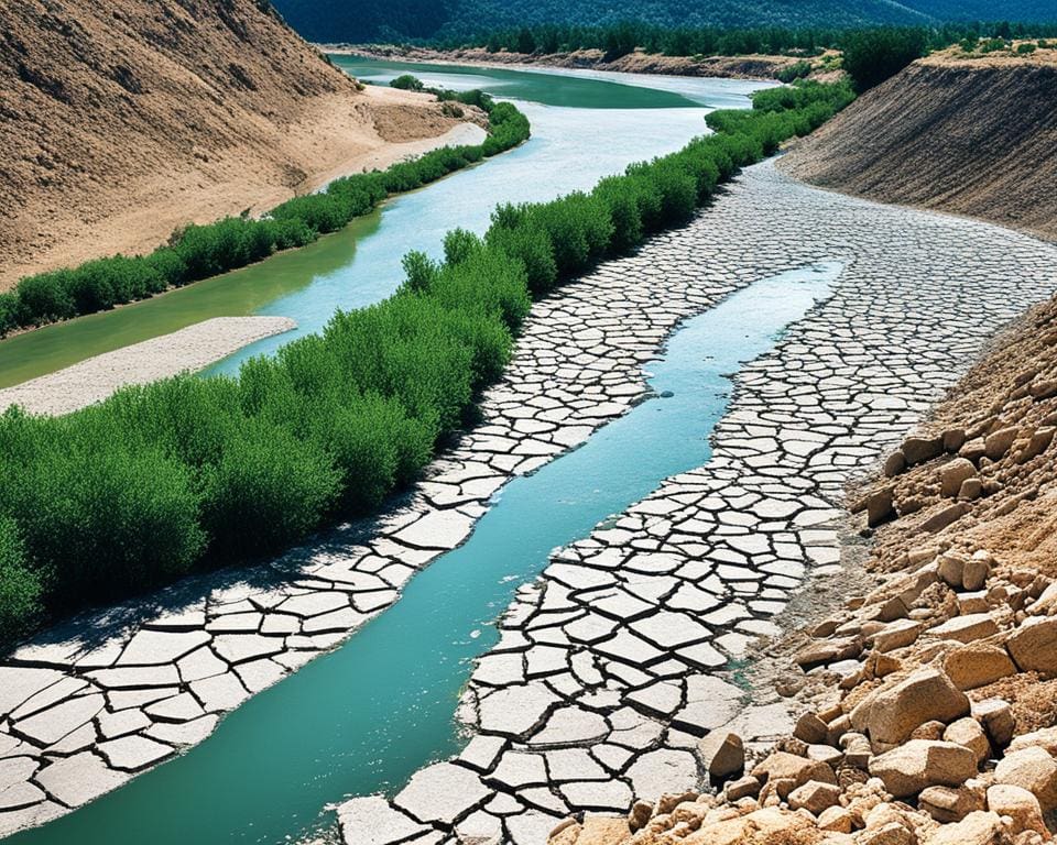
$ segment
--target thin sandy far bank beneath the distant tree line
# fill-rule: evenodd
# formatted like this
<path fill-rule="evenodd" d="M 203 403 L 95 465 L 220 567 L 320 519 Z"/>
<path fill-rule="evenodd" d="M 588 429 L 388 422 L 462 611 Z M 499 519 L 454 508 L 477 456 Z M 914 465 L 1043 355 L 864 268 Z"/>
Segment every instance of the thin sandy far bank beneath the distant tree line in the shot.
<path fill-rule="evenodd" d="M 359 55 L 390 62 L 429 62 L 435 64 L 471 65 L 478 67 L 555 67 L 566 69 L 608 70 L 624 74 L 653 74 L 660 76 L 716 77 L 721 79 L 777 79 L 783 70 L 807 61 L 813 67 L 813 78 L 833 81 L 825 68 L 825 57 L 832 52 L 810 59 L 791 56 L 663 56 L 635 51 L 620 58 L 607 61 L 600 50 L 578 50 L 574 53 L 525 54 L 505 51 L 489 53 L 483 47 L 461 50 L 432 50 L 428 47 L 395 46 L 386 44 L 320 44 L 319 50 L 336 55 Z"/>

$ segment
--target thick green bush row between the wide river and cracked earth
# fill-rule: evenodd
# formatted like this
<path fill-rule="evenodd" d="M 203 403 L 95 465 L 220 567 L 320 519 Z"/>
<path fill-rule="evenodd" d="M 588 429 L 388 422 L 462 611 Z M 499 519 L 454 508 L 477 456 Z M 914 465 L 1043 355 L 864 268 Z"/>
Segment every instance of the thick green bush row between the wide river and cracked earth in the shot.
<path fill-rule="evenodd" d="M 26 632 L 41 606 L 66 613 L 252 560 L 378 508 L 466 425 L 532 297 L 684 224 L 739 167 L 849 97 L 817 84 L 767 91 L 752 111 L 711 114 L 716 134 L 590 193 L 501 206 L 483 237 L 450 232 L 443 262 L 410 253 L 389 299 L 337 312 L 237 378 L 130 387 L 58 418 L 9 409 L 0 637 Z"/>

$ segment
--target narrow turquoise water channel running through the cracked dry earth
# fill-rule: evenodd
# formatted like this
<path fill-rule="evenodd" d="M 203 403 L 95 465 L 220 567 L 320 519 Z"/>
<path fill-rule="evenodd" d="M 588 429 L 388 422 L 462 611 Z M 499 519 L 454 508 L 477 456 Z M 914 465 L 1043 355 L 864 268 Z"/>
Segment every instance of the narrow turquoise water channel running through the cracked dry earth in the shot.
<path fill-rule="evenodd" d="M 775 276 L 685 322 L 651 366 L 653 398 L 506 485 L 464 546 L 346 645 L 248 701 L 185 756 L 11 845 L 288 842 L 333 826 L 328 804 L 395 791 L 457 753 L 459 692 L 516 588 L 555 547 L 706 463 L 728 375 L 827 297 L 839 272 L 824 263 Z"/>

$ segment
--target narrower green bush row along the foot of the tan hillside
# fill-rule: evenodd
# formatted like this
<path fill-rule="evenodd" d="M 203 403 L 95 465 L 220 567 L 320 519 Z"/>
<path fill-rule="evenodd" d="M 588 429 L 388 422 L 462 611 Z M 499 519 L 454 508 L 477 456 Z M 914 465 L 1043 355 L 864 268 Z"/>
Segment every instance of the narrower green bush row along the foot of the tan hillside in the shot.
<path fill-rule="evenodd" d="M 150 255 L 115 255 L 28 276 L 12 292 L 0 293 L 0 337 L 144 299 L 243 267 L 277 250 L 304 246 L 368 213 L 392 194 L 422 187 L 528 138 L 527 119 L 510 103 L 495 103 L 480 91 L 434 92 L 446 102 L 484 109 L 489 113 L 484 142 L 445 146 L 383 172 L 336 179 L 326 190 L 295 197 L 262 219 L 229 217 L 208 226 L 188 226 Z"/>

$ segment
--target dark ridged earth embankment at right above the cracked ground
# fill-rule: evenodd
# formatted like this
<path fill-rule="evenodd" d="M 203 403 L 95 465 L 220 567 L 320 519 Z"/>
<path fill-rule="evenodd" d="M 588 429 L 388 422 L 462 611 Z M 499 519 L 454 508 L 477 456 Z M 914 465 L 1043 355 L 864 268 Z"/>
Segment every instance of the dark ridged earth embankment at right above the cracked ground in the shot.
<path fill-rule="evenodd" d="M 821 187 L 1057 237 L 1057 51 L 916 62 L 783 161 Z"/>

